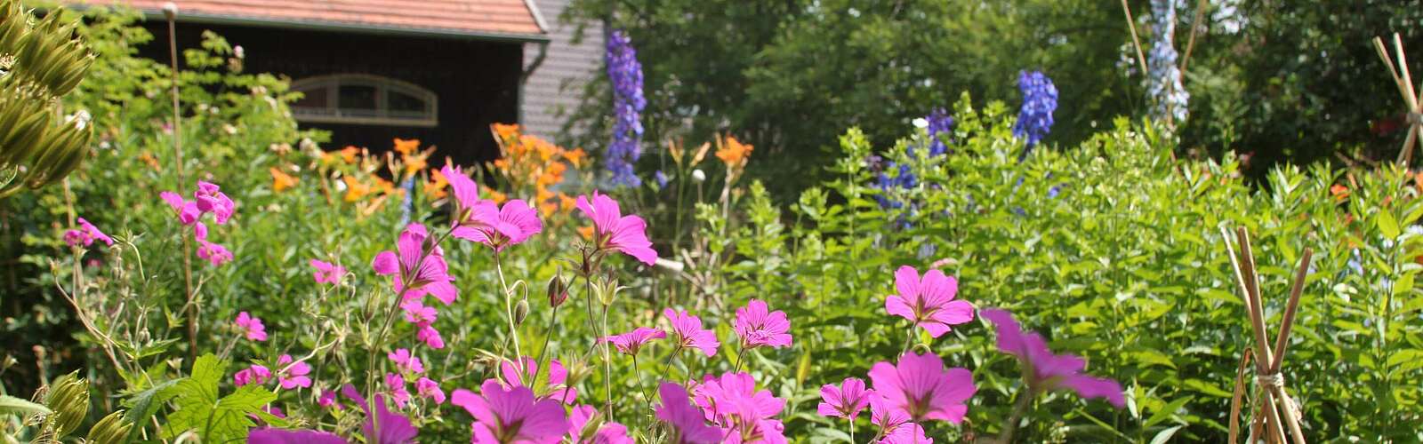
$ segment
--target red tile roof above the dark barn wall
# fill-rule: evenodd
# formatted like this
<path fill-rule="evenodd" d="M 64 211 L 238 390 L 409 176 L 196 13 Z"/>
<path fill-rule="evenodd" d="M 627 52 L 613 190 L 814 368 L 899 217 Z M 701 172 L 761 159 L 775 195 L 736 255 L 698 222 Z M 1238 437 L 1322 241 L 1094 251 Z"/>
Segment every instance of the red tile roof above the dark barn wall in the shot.
<path fill-rule="evenodd" d="M 165 0 L 71 0 L 124 3 L 159 13 Z M 178 20 L 232 21 L 349 31 L 396 31 L 542 40 L 542 18 L 525 0 L 174 0 Z"/>

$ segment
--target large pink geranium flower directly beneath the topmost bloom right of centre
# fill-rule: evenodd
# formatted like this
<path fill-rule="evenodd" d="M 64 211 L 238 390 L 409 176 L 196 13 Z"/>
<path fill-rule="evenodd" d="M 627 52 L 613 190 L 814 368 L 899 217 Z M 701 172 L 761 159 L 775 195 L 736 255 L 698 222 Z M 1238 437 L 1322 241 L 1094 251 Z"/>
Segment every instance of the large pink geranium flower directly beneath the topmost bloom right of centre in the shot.
<path fill-rule="evenodd" d="M 869 381 L 889 407 L 904 410 L 914 421 L 958 424 L 969 410 L 963 401 L 978 391 L 972 373 L 958 367 L 945 370 L 943 360 L 932 353 L 905 353 L 898 364 L 875 363 Z"/>

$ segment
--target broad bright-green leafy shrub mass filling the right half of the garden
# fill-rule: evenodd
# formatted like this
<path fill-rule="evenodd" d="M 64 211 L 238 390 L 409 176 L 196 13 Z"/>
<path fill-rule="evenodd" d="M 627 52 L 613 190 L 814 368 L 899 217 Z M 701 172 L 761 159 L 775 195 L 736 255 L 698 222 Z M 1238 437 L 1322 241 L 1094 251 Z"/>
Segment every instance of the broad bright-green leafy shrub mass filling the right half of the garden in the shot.
<path fill-rule="evenodd" d="M 975 111 L 965 97 L 955 118 L 949 155 L 911 149 L 926 144 L 922 131 L 884 154 L 914 165 L 915 188 L 872 186 L 867 159 L 875 149 L 851 130 L 841 137 L 838 179 L 801 195 L 794 225 L 781 226 L 753 186 L 741 204 L 748 221 L 714 240 L 737 255 L 717 295 L 699 296 L 736 305 L 774 293 L 787 299 L 783 306 L 794 303 L 800 357 L 814 363 L 810 384 L 793 386 L 797 398 L 902 349 L 904 322 L 887 323 L 882 309 L 892 272 L 931 266 L 958 276 L 961 299 L 1012 309 L 1054 350 L 1087 357 L 1089 371 L 1127 387 L 1120 411 L 1100 401 L 1043 403 L 1020 437 L 1224 440 L 1237 361 L 1251 336 L 1220 233 L 1242 226 L 1255 238 L 1269 326 L 1278 326 L 1301 252 L 1315 250 L 1284 366 L 1306 434 L 1419 438 L 1423 371 L 1412 357 L 1423 350 L 1423 297 L 1412 283 L 1423 252 L 1419 232 L 1403 228 L 1423 206 L 1407 172 L 1286 166 L 1255 189 L 1234 158 L 1175 161 L 1160 132 L 1126 121 L 1080 147 L 1037 149 L 1019 162 L 1022 142 L 1010 137 L 1002 104 Z M 1331 189 L 1340 182 L 1348 191 Z M 875 196 L 912 204 L 885 209 Z M 724 223 L 704 221 L 707 236 Z M 996 431 L 1020 390 L 1012 360 L 988 337 L 969 324 L 933 343 L 982 381 L 965 434 Z M 777 357 L 797 361 L 793 353 Z M 807 410 L 813 403 L 798 406 L 804 423 L 788 427 L 822 423 Z"/>

